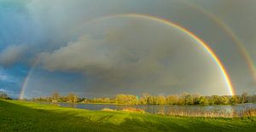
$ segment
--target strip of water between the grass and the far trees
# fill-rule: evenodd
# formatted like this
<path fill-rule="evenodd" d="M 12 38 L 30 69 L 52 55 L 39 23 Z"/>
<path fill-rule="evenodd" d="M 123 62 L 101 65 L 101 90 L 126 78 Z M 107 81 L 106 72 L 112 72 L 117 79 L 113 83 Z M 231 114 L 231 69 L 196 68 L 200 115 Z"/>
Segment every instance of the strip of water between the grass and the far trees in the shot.
<path fill-rule="evenodd" d="M 145 112 L 156 114 L 158 112 L 169 112 L 170 110 L 178 111 L 196 111 L 196 112 L 218 112 L 225 110 L 225 112 L 241 112 L 245 108 L 256 109 L 256 104 L 241 104 L 236 106 L 170 106 L 170 105 L 111 105 L 111 104 L 73 104 L 73 103 L 58 103 L 64 107 L 74 107 L 79 109 L 88 109 L 94 111 L 100 111 L 103 108 L 109 108 L 117 111 L 121 111 L 124 108 L 132 107 L 143 109 Z"/>

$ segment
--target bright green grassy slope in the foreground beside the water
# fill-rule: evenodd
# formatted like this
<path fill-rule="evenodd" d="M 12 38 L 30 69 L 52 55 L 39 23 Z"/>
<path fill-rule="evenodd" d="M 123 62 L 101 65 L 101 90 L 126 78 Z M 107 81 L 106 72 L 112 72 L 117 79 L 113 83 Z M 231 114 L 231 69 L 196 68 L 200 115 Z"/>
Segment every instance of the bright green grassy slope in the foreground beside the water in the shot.
<path fill-rule="evenodd" d="M 179 118 L 0 100 L 0 131 L 253 131 L 256 118 Z"/>

